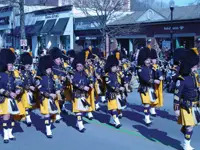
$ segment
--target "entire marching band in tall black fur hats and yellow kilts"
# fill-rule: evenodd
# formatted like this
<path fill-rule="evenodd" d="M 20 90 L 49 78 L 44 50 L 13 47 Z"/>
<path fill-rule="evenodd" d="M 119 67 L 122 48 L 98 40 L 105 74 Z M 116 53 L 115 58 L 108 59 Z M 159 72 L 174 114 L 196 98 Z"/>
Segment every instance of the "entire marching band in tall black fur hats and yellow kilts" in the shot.
<path fill-rule="evenodd" d="M 112 51 L 107 58 L 97 48 L 89 46 L 81 52 L 62 51 L 57 47 L 41 54 L 36 66 L 30 52 L 16 57 L 14 49 L 0 50 L 0 116 L 4 143 L 16 138 L 12 134 L 16 121 L 32 125 L 31 111 L 39 109 L 44 118 L 47 138 L 52 138 L 52 124 L 62 120 L 62 111 L 71 104 L 76 127 L 85 132 L 83 116 L 94 119 L 99 103 L 107 103 L 109 124 L 122 126 L 120 119 L 127 107 L 127 97 L 133 92 L 131 82 L 137 74 L 138 92 L 144 107 L 144 122 L 152 124 L 150 116 L 164 105 L 163 86 L 166 75 L 155 49 L 147 47 L 138 53 L 137 65 L 130 62 L 120 50 Z M 197 39 L 200 43 L 200 38 Z M 190 145 L 194 126 L 200 124 L 200 80 L 197 74 L 199 53 L 197 48 L 177 49 L 174 52 L 172 83 L 174 111 L 182 125 L 184 150 Z M 97 118 L 98 119 L 98 118 Z"/>

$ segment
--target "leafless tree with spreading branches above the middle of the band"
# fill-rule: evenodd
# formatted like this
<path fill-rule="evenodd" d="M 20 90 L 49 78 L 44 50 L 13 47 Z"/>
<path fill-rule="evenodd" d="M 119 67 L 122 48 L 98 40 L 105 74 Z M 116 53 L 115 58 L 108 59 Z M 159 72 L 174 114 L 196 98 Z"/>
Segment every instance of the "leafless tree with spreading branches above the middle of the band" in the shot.
<path fill-rule="evenodd" d="M 76 0 L 74 6 L 79 8 L 85 16 L 94 17 L 94 26 L 100 27 L 103 36 L 102 43 L 106 46 L 106 37 L 111 36 L 108 23 L 123 16 L 123 7 L 127 0 Z"/>

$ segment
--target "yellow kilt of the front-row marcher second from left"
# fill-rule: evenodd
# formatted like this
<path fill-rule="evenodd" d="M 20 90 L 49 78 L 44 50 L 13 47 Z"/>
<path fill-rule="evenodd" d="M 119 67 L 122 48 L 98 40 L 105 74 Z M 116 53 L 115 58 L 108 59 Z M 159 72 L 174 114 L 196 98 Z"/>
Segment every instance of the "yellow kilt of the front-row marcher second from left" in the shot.
<path fill-rule="evenodd" d="M 59 101 L 58 100 L 55 100 L 55 104 L 58 108 L 58 111 L 60 113 L 60 106 L 59 106 Z M 42 103 L 40 103 L 40 113 L 43 114 L 43 115 L 49 115 L 50 112 L 49 112 L 49 106 L 48 106 L 48 99 L 45 98 Z"/>

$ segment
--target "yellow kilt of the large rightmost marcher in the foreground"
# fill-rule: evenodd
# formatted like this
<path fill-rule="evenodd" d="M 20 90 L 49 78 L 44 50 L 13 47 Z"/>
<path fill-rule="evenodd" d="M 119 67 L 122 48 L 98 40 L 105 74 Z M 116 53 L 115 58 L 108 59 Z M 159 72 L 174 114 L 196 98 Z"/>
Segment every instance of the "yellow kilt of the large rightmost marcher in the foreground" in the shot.
<path fill-rule="evenodd" d="M 180 109 L 180 116 L 178 118 L 178 124 L 183 126 L 195 126 L 194 117 L 192 114 L 192 108 L 189 109 L 188 113 L 185 109 Z"/>

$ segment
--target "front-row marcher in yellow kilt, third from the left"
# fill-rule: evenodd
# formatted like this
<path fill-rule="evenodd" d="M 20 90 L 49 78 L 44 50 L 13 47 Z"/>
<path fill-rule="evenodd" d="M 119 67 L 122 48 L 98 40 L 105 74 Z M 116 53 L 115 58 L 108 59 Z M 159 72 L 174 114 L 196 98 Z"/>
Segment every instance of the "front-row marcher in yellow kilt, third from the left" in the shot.
<path fill-rule="evenodd" d="M 84 70 L 84 65 L 85 53 L 80 52 L 76 55 L 73 62 L 75 72 L 72 79 L 74 98 L 72 101 L 72 111 L 76 115 L 76 126 L 80 132 L 84 132 L 86 130 L 82 120 L 83 113 L 88 113 L 93 110 L 89 96 L 90 91 L 93 89 L 93 84 L 91 84 L 90 79 Z"/>

